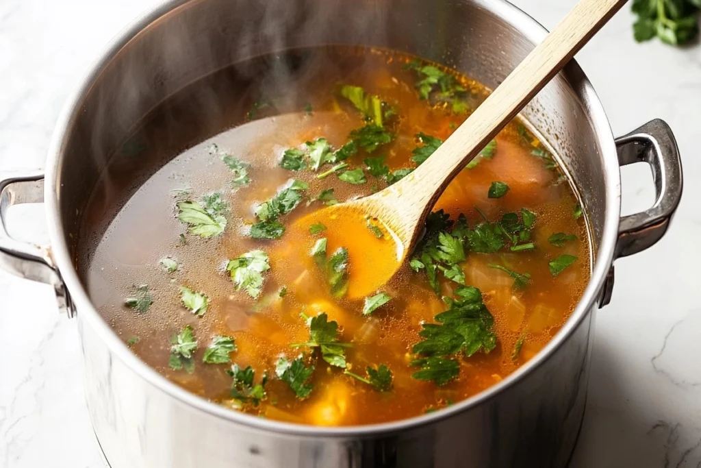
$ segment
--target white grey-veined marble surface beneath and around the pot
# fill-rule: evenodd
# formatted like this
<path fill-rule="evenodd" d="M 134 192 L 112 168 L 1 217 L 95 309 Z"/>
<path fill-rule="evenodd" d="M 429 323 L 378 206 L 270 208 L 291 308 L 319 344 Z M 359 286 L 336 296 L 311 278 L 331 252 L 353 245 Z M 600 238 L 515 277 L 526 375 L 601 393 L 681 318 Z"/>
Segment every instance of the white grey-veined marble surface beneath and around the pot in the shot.
<path fill-rule="evenodd" d="M 0 0 L 0 169 L 42 166 L 72 86 L 104 44 L 156 0 Z M 575 0 L 517 0 L 552 27 Z M 587 413 L 572 467 L 701 467 L 701 46 L 632 40 L 628 8 L 578 55 L 613 133 L 660 117 L 686 176 L 657 246 L 616 262 L 611 305 L 597 312 Z M 646 168 L 623 173 L 623 209 L 653 200 Z M 41 208 L 13 210 L 15 233 L 42 239 Z M 83 403 L 75 323 L 51 291 L 0 272 L 0 467 L 102 466 Z"/>

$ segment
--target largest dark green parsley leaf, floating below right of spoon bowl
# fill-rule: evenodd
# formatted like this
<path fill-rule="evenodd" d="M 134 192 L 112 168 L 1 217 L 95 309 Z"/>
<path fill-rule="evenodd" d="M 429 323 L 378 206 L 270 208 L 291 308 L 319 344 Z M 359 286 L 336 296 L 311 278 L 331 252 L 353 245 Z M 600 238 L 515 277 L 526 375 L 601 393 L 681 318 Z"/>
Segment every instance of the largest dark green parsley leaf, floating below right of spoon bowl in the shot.
<path fill-rule="evenodd" d="M 449 356 L 464 352 L 469 357 L 480 350 L 488 353 L 496 347 L 496 335 L 492 331 L 494 319 L 482 302 L 479 289 L 461 286 L 455 294 L 455 299 L 444 297 L 449 308 L 435 316 L 438 323 L 424 323 L 418 333 L 423 341 L 416 343 L 412 352 L 425 357 L 411 363 L 421 367 L 412 375 L 416 379 L 443 385 L 459 372 L 458 361 Z"/>

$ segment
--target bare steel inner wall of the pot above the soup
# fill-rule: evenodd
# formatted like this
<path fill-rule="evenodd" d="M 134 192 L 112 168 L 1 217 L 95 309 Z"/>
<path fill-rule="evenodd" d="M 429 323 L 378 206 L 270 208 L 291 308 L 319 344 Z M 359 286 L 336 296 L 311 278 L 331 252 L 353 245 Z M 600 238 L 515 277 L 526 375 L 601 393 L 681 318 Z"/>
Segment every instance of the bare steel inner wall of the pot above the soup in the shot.
<path fill-rule="evenodd" d="M 193 0 L 144 24 L 107 62 L 81 103 L 63 152 L 59 200 L 63 229 L 79 239 L 81 214 L 98 177 L 110 168 L 124 174 L 150 174 L 198 140 L 221 131 L 208 125 L 183 126 L 177 112 L 163 121 L 162 157 L 146 158 L 128 136 L 159 103 L 189 83 L 232 63 L 285 48 L 324 44 L 378 46 L 444 63 L 494 88 L 533 48 L 529 37 L 542 32 L 519 12 L 487 0 Z M 484 8 L 491 4 L 491 11 Z M 496 11 L 497 13 L 494 13 Z M 510 24 L 510 22 L 513 22 Z M 525 32 L 525 34 L 524 34 Z M 235 67 L 236 68 L 236 67 Z M 245 76 L 246 70 L 239 70 Z M 594 245 L 604 229 L 606 204 L 602 144 L 580 98 L 584 77 L 576 66 L 559 74 L 524 111 L 564 162 L 587 210 Z M 217 88 L 196 97 L 207 112 L 217 107 Z M 603 143 L 606 144 L 606 141 Z M 111 169 L 110 169 L 111 170 Z M 129 196 L 142 178 L 132 176 L 115 189 Z M 76 209 L 77 208 L 77 209 Z M 105 218 L 117 207 L 107 206 Z"/>

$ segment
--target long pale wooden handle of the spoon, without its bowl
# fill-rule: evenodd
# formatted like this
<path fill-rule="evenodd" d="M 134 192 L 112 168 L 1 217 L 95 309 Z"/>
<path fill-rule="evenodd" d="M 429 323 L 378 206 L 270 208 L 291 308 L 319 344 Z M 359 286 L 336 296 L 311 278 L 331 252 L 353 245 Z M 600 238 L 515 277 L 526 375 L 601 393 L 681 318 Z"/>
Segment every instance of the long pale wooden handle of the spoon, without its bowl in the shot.
<path fill-rule="evenodd" d="M 608 21 L 625 0 L 580 0 L 458 127 L 428 161 L 397 184 L 402 207 L 433 208 L 445 187 L 575 53 Z M 424 213 L 418 213 L 419 219 Z"/>

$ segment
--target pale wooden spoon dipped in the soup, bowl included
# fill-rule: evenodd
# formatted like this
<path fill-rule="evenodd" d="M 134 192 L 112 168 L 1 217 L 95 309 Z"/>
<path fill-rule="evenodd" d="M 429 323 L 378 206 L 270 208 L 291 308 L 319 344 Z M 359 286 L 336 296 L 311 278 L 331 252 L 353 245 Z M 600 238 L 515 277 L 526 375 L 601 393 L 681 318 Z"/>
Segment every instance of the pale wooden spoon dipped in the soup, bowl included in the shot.
<path fill-rule="evenodd" d="M 395 274 L 421 239 L 426 217 L 455 175 L 477 156 L 623 4 L 625 0 L 580 0 L 545 40 L 414 172 L 381 192 L 325 208 L 300 220 L 306 226 L 327 220 L 336 227 L 336 240 L 340 245 L 346 246 L 349 243 L 358 246 L 355 249 L 348 247 L 351 272 L 355 272 L 348 297 L 372 294 Z M 367 246 L 361 248 L 366 244 L 359 241 L 360 231 L 353 229 L 353 224 L 367 222 L 367 218 L 374 218 L 381 223 L 394 239 L 395 245 L 389 245 L 392 241 L 387 239 L 384 244 L 377 243 L 371 249 Z M 369 232 L 368 229 L 365 231 Z M 339 236 L 341 239 L 338 239 Z M 393 257 L 395 262 L 390 260 Z"/>

